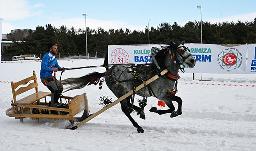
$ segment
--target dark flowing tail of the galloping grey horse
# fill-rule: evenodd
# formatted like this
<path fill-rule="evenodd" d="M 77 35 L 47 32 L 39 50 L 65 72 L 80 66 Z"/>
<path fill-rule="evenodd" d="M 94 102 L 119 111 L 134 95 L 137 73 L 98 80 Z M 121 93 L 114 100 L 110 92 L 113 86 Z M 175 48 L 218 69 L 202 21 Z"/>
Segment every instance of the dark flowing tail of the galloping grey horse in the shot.
<path fill-rule="evenodd" d="M 67 79 L 62 80 L 62 85 L 69 85 L 65 90 L 69 91 L 69 90 L 73 90 L 73 89 L 81 89 L 83 87 L 85 87 L 86 85 L 97 85 L 99 83 L 99 79 L 101 77 L 105 76 L 105 72 L 104 73 L 99 73 L 99 72 L 92 72 L 90 74 L 84 75 L 82 77 L 70 77 Z"/>

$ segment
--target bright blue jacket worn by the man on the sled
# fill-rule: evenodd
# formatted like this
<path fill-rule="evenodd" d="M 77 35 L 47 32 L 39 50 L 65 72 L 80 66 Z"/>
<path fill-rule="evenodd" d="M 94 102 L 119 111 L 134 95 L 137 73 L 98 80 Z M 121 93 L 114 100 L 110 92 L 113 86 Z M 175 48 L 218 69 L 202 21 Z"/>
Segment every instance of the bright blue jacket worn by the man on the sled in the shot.
<path fill-rule="evenodd" d="M 44 55 L 42 59 L 40 77 L 43 78 L 52 76 L 52 68 L 60 69 L 61 67 L 58 65 L 56 56 L 49 51 Z"/>

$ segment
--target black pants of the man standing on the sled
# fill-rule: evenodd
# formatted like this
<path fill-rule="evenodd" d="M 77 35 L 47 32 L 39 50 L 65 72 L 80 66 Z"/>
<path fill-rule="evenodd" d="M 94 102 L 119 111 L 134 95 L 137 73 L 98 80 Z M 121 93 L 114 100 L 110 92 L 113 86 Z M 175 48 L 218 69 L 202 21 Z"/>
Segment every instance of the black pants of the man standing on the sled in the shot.
<path fill-rule="evenodd" d="M 52 92 L 51 106 L 57 107 L 58 100 L 63 91 L 62 84 L 54 77 L 43 77 L 41 78 L 42 83 Z"/>

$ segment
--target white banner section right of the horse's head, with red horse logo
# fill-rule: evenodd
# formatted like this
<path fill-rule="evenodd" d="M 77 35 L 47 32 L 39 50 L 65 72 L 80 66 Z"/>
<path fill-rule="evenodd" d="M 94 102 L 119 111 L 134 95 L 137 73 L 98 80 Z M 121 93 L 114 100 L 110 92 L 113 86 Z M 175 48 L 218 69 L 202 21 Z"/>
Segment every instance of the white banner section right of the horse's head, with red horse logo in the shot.
<path fill-rule="evenodd" d="M 245 74 L 246 45 L 226 47 L 212 44 L 185 44 L 196 59 L 187 73 Z"/>

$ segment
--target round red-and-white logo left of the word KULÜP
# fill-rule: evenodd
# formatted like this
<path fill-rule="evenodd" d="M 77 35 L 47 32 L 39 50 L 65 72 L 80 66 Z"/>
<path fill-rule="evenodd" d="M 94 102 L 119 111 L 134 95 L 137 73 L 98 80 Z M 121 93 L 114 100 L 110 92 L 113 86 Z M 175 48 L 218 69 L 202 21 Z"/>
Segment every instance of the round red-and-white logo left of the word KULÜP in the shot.
<path fill-rule="evenodd" d="M 128 53 L 122 48 L 116 48 L 111 53 L 112 64 L 129 64 L 130 59 Z"/>

